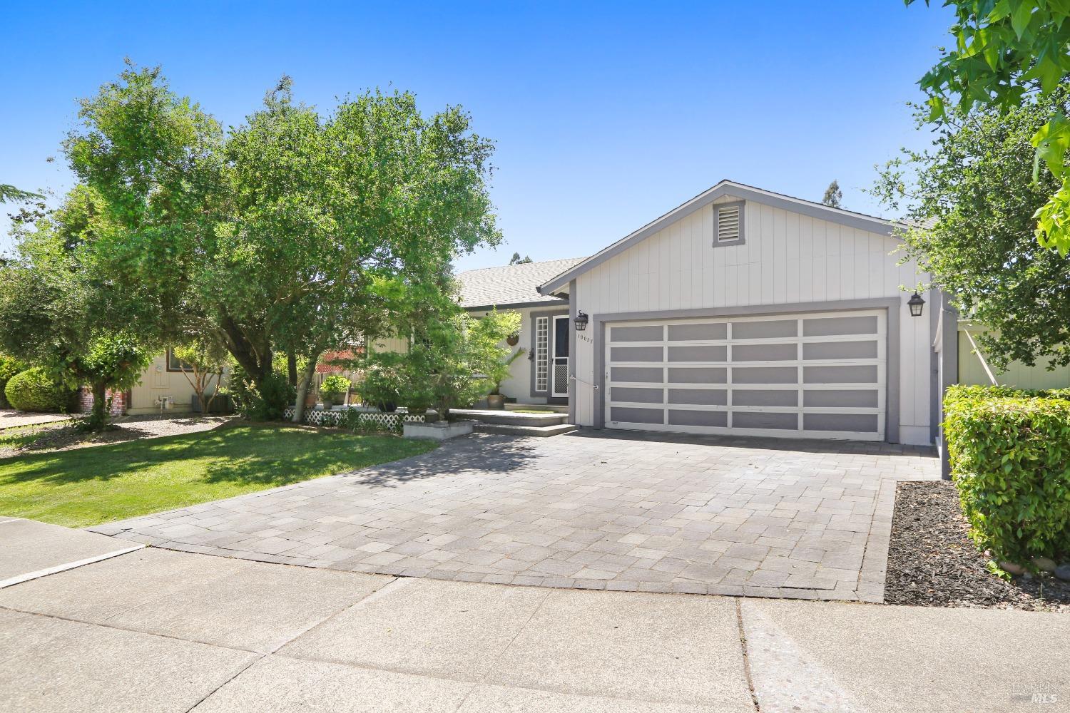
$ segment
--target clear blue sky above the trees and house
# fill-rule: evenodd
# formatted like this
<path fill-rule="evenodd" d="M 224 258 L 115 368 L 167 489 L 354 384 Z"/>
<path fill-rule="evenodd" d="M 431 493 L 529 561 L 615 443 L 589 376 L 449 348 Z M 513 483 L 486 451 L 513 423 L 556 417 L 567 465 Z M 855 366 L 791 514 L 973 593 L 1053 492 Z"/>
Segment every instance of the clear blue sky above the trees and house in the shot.
<path fill-rule="evenodd" d="M 725 177 L 810 200 L 837 179 L 845 207 L 880 215 L 861 189 L 874 164 L 929 141 L 906 103 L 951 24 L 901 0 L 292 5 L 9 5 L 0 182 L 68 188 L 75 99 L 128 56 L 225 124 L 284 73 L 324 110 L 374 86 L 415 92 L 425 112 L 464 106 L 496 142 L 505 243 L 462 269 L 591 254 Z"/>

